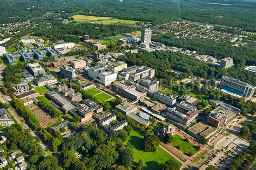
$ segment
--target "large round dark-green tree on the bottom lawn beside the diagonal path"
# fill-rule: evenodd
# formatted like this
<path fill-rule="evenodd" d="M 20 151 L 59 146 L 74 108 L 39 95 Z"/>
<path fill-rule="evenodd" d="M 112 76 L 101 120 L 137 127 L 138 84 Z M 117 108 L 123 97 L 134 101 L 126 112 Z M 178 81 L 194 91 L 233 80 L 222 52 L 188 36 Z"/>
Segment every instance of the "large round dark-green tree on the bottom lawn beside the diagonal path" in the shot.
<path fill-rule="evenodd" d="M 159 139 L 154 134 L 147 134 L 144 137 L 144 150 L 146 152 L 156 152 L 158 150 Z"/>

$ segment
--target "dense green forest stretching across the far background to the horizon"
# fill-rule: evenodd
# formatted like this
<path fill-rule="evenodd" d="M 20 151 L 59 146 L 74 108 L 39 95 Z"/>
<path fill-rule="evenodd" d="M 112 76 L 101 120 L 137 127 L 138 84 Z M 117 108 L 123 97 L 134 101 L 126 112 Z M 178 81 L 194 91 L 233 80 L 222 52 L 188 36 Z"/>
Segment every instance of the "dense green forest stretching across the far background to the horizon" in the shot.
<path fill-rule="evenodd" d="M 8 2 L 8 3 L 7 3 Z M 97 5 L 96 5 L 97 3 Z M 58 13 L 60 18 L 68 18 L 75 13 L 131 19 L 151 22 L 158 25 L 173 20 L 189 19 L 202 23 L 213 23 L 242 27 L 247 31 L 256 31 L 255 3 L 228 2 L 227 5 L 205 1 L 133 1 L 123 3 L 117 0 L 88 1 L 6 1 L 1 0 L 0 23 L 26 20 L 46 12 Z M 19 6 L 17 9 L 16 6 Z M 33 8 L 31 8 L 34 6 Z M 207 11 L 207 12 L 206 12 Z M 220 17 L 221 16 L 221 17 Z M 8 19 L 8 17 L 15 17 Z"/>

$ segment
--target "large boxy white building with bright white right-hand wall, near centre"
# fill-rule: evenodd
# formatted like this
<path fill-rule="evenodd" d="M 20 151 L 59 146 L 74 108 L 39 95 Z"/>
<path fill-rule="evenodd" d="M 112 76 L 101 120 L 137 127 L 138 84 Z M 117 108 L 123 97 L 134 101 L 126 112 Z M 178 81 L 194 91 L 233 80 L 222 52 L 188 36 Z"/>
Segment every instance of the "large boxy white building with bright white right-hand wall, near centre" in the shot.
<path fill-rule="evenodd" d="M 112 82 L 117 80 L 117 72 L 102 66 L 95 66 L 90 68 L 88 70 L 88 76 L 91 77 L 93 81 L 98 81 L 104 86 L 109 86 Z"/>

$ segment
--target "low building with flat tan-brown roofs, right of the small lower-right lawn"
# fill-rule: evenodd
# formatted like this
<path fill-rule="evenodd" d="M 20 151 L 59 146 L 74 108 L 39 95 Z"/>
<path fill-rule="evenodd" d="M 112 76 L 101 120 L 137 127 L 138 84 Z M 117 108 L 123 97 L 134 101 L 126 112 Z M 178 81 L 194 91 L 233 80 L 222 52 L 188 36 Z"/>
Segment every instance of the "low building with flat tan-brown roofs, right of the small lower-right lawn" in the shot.
<path fill-rule="evenodd" d="M 203 121 L 192 126 L 187 131 L 192 137 L 196 138 L 198 141 L 203 142 L 204 140 L 206 140 L 208 141 L 208 143 L 210 143 L 221 132 L 220 129 L 214 128 L 213 126 Z"/>

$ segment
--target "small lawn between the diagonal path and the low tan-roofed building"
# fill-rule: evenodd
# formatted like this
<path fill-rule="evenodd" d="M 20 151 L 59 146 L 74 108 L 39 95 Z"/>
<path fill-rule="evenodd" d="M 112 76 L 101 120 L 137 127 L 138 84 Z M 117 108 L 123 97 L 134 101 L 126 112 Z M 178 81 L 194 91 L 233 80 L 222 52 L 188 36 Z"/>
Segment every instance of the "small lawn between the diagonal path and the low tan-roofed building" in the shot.
<path fill-rule="evenodd" d="M 175 134 L 173 140 L 171 141 L 172 146 L 179 146 L 179 150 L 184 154 L 188 155 L 190 152 L 192 155 L 198 152 L 196 145 L 187 142 L 183 137 L 180 137 L 178 134 Z"/>

